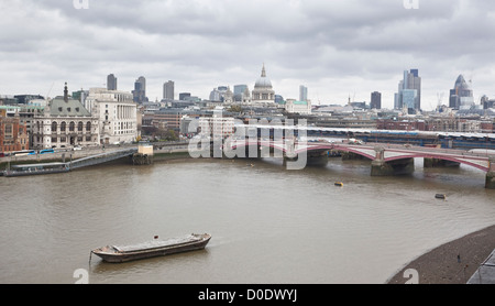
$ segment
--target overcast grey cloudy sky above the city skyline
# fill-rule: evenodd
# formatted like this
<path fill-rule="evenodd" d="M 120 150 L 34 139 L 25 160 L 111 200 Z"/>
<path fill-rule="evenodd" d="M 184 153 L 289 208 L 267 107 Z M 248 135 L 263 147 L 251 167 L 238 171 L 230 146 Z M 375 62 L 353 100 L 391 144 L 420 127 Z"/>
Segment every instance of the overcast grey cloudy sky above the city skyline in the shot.
<path fill-rule="evenodd" d="M 0 95 L 54 97 L 146 77 L 208 99 L 218 86 L 253 89 L 263 63 L 276 94 L 312 103 L 392 108 L 405 69 L 433 108 L 463 74 L 476 101 L 495 98 L 495 1 L 486 0 L 0 0 Z M 418 6 L 415 4 L 418 3 Z M 79 9 L 78 9 L 79 8 Z M 52 87 L 53 86 L 53 87 Z M 50 94 L 48 94 L 50 92 Z"/>

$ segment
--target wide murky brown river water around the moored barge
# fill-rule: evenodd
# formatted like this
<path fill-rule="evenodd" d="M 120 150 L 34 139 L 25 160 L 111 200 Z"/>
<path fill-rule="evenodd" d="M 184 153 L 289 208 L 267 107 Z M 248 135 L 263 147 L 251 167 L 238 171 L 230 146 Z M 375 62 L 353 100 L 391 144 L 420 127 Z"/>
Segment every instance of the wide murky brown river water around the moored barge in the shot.
<path fill-rule="evenodd" d="M 87 271 L 91 284 L 386 283 L 425 252 L 495 223 L 485 173 L 415 162 L 398 177 L 340 159 L 301 171 L 187 160 L 0 177 L 0 282 L 72 284 Z M 89 261 L 107 244 L 191 232 L 212 234 L 205 250 Z"/>

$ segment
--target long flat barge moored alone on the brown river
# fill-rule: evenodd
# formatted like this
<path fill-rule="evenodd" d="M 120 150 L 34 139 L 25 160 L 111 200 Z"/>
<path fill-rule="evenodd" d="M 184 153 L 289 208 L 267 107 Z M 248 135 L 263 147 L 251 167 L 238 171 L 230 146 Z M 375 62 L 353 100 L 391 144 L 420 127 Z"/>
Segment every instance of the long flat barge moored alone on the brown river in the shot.
<path fill-rule="evenodd" d="M 174 253 L 201 250 L 210 241 L 208 233 L 191 233 L 182 238 L 172 238 L 167 240 L 155 239 L 133 245 L 107 245 L 91 251 L 106 262 L 128 262 L 132 260 L 163 256 Z M 91 258 L 90 258 L 91 260 Z"/>

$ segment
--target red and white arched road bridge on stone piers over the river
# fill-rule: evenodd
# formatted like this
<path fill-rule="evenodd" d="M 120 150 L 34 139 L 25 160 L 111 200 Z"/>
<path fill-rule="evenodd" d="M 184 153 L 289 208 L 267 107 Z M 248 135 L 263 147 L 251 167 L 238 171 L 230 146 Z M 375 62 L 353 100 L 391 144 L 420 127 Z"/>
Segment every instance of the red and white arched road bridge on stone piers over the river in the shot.
<path fill-rule="evenodd" d="M 324 159 L 329 151 L 350 152 L 372 161 L 373 176 L 411 173 L 414 159 L 449 161 L 465 164 L 486 172 L 486 188 L 495 189 L 495 156 L 488 153 L 472 153 L 462 150 L 394 144 L 352 144 L 340 142 L 293 142 L 271 140 L 237 140 L 227 142 L 223 151 L 229 157 L 284 157 L 308 163 Z M 271 155 L 272 153 L 272 155 Z M 328 161 L 328 159 L 326 159 Z"/>

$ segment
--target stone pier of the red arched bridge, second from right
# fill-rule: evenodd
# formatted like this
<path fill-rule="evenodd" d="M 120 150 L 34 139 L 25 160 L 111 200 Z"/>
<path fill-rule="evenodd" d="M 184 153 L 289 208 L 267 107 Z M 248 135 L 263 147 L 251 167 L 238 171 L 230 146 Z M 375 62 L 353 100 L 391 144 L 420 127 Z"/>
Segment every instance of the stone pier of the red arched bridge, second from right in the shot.
<path fill-rule="evenodd" d="M 385 162 L 383 147 L 375 149 L 376 159 L 372 161 L 372 176 L 407 175 L 415 172 L 415 159 Z"/>

